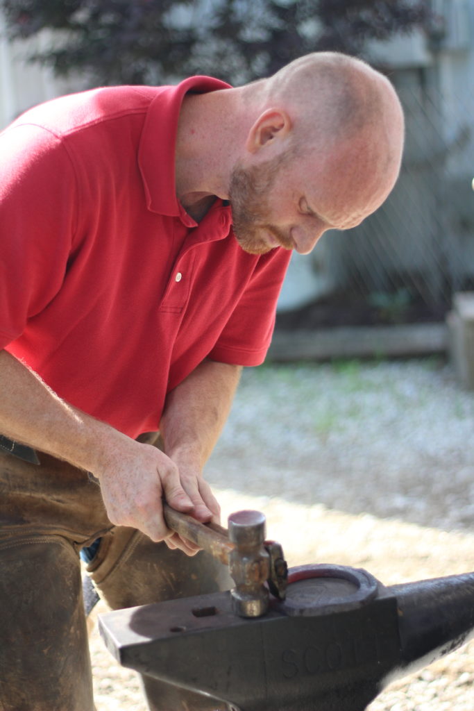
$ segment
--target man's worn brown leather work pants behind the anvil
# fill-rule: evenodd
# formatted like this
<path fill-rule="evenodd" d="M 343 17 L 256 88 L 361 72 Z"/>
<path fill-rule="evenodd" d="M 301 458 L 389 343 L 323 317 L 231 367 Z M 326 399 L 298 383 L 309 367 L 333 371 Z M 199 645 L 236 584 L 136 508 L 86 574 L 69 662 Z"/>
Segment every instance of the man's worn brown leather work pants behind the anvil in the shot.
<path fill-rule="evenodd" d="M 47 454 L 0 454 L 0 711 L 93 711 L 79 552 L 112 609 L 228 589 L 222 564 L 188 557 L 107 519 L 87 472 Z M 111 658 L 112 659 L 112 658 Z M 220 702 L 150 677 L 151 711 L 214 711 Z"/>

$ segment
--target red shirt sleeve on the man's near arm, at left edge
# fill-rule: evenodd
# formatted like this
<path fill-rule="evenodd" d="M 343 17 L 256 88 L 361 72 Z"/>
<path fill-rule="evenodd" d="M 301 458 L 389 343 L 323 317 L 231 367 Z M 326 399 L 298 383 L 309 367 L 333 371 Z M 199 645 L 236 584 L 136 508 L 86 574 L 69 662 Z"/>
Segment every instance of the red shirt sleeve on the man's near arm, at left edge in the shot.
<path fill-rule="evenodd" d="M 0 134 L 0 348 L 60 289 L 74 196 L 74 172 L 58 137 L 31 124 Z"/>

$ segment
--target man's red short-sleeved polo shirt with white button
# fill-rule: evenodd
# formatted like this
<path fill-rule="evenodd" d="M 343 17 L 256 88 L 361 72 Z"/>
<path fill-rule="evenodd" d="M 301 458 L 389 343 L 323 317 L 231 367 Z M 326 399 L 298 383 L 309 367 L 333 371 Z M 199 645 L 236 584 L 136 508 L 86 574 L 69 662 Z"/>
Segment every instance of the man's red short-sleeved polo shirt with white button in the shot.
<path fill-rule="evenodd" d="M 222 201 L 197 224 L 176 200 L 183 96 L 225 87 L 92 90 L 0 134 L 0 347 L 132 437 L 203 358 L 269 346 L 289 253 L 248 255 Z"/>

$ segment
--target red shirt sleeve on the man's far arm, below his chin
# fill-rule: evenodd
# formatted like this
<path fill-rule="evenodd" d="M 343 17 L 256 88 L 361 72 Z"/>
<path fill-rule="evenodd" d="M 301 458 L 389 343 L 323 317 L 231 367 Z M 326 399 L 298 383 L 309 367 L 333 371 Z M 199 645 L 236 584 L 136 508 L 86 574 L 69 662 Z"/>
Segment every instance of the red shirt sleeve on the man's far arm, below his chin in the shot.
<path fill-rule="evenodd" d="M 247 366 L 264 362 L 290 258 L 291 252 L 283 248 L 259 257 L 239 303 L 209 353 L 211 360 Z"/>

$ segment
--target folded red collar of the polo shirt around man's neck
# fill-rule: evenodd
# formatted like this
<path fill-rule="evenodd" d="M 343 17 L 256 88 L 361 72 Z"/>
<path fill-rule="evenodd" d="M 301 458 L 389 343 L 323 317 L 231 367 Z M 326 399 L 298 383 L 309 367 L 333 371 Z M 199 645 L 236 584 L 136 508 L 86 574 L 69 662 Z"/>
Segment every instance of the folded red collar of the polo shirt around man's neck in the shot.
<path fill-rule="evenodd" d="M 146 112 L 138 156 L 149 210 L 179 217 L 188 227 L 195 226 L 195 220 L 176 198 L 175 147 L 179 112 L 187 92 L 205 93 L 228 88 L 230 85 L 225 82 L 202 76 L 189 77 L 177 86 L 158 88 Z"/>

